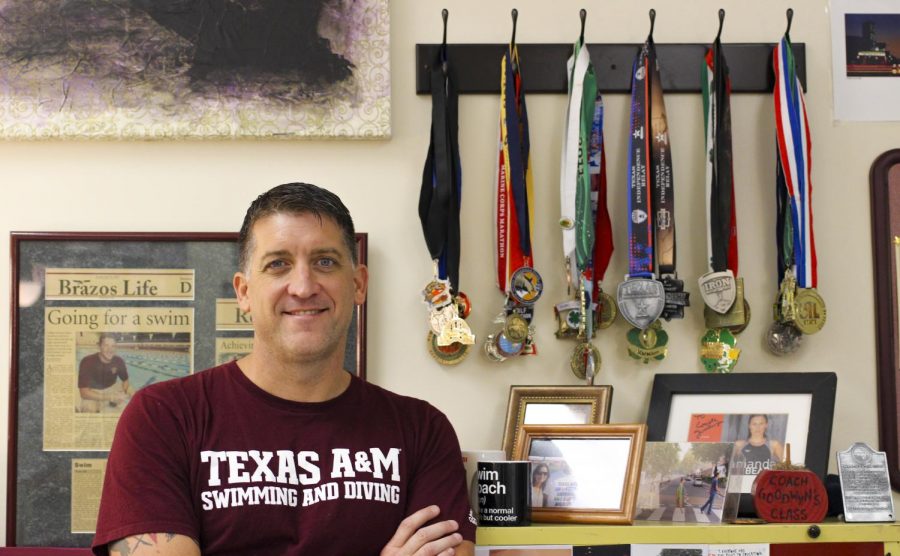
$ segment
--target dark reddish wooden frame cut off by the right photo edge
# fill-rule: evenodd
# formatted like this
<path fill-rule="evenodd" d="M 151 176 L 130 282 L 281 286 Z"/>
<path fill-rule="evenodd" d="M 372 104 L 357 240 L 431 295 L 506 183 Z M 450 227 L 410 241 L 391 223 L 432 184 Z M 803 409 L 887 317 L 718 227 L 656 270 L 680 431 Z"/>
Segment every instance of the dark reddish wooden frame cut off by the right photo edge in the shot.
<path fill-rule="evenodd" d="M 882 153 L 869 172 L 872 207 L 872 264 L 875 280 L 878 441 L 887 454 L 891 486 L 900 490 L 900 149 Z"/>

